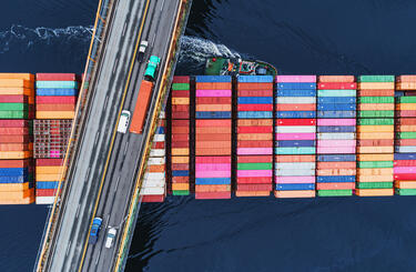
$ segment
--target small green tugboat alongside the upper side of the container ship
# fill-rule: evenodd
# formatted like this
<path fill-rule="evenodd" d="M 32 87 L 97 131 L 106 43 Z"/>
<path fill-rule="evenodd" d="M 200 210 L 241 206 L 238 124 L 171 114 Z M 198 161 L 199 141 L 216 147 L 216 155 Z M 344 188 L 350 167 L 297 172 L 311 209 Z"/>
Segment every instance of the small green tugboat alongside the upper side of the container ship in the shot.
<path fill-rule="evenodd" d="M 212 57 L 205 63 L 206 75 L 273 75 L 277 74 L 276 68 L 260 60 L 242 60 Z"/>

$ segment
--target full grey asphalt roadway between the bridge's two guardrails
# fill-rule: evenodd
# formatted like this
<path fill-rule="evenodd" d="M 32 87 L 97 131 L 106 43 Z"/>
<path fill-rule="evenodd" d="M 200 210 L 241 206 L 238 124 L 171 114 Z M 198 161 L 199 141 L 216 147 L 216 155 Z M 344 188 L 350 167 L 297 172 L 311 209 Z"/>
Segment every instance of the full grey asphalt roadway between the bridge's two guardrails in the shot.
<path fill-rule="evenodd" d="M 109 21 L 110 33 L 93 85 L 92 107 L 85 120 L 87 129 L 79 139 L 81 145 L 77 168 L 71 173 L 68 197 L 61 205 L 59 226 L 45 264 L 48 271 L 72 272 L 82 268 L 82 271 L 101 272 L 111 271 L 114 265 L 149 122 L 143 134 L 118 132 L 114 141 L 112 137 L 121 108 L 131 112 L 134 110 L 149 57 L 154 54 L 162 59 L 160 71 L 165 66 L 179 2 L 118 0 L 114 3 L 115 12 Z M 143 61 L 133 58 L 138 40 L 149 41 Z M 132 62 L 133 69 L 130 71 Z M 159 90 L 160 79 L 161 74 L 154 90 Z M 153 92 L 149 112 L 155 108 L 155 98 L 156 93 Z M 94 216 L 102 218 L 103 224 L 98 242 L 92 245 L 87 241 Z M 110 226 L 116 228 L 118 234 L 113 246 L 106 249 L 105 235 Z"/>

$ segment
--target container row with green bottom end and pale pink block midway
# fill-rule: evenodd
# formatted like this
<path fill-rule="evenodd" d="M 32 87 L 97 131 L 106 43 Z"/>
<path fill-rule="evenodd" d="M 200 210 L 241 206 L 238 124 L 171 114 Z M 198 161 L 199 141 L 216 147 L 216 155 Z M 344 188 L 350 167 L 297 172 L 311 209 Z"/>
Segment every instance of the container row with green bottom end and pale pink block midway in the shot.
<path fill-rule="evenodd" d="M 321 75 L 317 87 L 317 194 L 353 195 L 357 84 L 353 75 Z"/>

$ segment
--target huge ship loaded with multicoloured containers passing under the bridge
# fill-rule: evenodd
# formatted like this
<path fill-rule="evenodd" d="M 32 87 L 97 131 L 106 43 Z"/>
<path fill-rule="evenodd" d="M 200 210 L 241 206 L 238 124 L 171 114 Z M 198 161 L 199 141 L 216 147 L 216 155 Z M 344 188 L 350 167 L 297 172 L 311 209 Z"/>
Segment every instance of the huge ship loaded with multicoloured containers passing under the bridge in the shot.
<path fill-rule="evenodd" d="M 53 203 L 80 83 L 0 73 L 1 204 Z M 416 75 L 174 77 L 152 141 L 143 202 L 416 195 Z"/>

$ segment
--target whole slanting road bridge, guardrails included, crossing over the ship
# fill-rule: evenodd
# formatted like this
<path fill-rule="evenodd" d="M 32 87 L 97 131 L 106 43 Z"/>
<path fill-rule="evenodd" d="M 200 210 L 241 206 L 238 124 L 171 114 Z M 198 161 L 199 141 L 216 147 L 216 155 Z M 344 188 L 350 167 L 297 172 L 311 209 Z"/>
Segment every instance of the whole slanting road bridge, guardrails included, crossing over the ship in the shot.
<path fill-rule="evenodd" d="M 138 212 L 140 187 L 160 111 L 173 77 L 191 0 L 100 0 L 77 113 L 35 271 L 122 271 Z M 148 41 L 143 60 L 141 41 Z M 161 58 L 142 134 L 116 133 L 133 111 L 150 56 Z M 89 244 L 92 220 L 118 229 Z"/>

